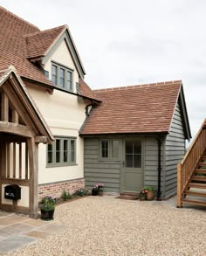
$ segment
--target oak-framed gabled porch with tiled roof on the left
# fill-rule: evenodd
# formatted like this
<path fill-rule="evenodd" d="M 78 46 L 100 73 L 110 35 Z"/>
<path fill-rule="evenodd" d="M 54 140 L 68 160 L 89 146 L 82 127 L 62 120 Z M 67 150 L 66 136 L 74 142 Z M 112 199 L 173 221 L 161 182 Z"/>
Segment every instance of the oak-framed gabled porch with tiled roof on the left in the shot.
<path fill-rule="evenodd" d="M 38 144 L 51 143 L 52 132 L 15 68 L 0 71 L 0 209 L 38 213 Z M 28 187 L 29 204 L 4 201 L 6 184 Z M 24 196 L 24 195 L 23 195 Z"/>

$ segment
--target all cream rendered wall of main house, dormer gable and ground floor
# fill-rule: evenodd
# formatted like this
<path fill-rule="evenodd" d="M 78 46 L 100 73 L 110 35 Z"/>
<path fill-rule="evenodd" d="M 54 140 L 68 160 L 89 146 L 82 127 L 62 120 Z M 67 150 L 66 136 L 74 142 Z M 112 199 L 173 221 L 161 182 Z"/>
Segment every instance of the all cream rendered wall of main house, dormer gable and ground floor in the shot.
<path fill-rule="evenodd" d="M 65 41 L 62 41 L 58 49 L 52 54 L 45 64 L 44 69 L 50 73 L 52 61 L 58 62 L 73 70 L 73 84 L 76 92 L 76 82 L 79 82 L 79 73 L 72 62 Z M 39 144 L 38 151 L 38 183 L 53 183 L 58 181 L 84 177 L 84 143 L 79 137 L 79 129 L 86 119 L 86 104 L 76 95 L 54 90 L 52 94 L 34 87 L 27 87 L 31 97 L 35 100 L 38 109 L 43 114 L 45 121 L 52 130 L 53 135 L 65 135 L 77 137 L 75 166 L 46 168 L 46 145 Z"/>

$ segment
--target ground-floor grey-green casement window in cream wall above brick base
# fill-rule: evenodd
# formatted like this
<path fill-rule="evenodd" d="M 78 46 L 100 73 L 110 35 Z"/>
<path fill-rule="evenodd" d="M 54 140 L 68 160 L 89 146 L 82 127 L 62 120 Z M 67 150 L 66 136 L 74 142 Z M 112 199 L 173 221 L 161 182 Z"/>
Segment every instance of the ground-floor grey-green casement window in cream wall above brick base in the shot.
<path fill-rule="evenodd" d="M 47 145 L 47 167 L 76 165 L 76 138 L 55 137 Z"/>

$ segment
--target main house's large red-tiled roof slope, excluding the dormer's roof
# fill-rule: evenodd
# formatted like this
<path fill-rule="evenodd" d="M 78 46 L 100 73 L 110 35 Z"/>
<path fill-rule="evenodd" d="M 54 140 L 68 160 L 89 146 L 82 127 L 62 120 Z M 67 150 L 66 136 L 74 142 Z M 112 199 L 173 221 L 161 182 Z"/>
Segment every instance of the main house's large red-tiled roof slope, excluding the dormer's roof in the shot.
<path fill-rule="evenodd" d="M 38 28 L 0 7 L 0 68 L 15 66 L 21 77 L 52 85 L 45 75 L 28 59 L 24 35 L 38 32 Z"/>

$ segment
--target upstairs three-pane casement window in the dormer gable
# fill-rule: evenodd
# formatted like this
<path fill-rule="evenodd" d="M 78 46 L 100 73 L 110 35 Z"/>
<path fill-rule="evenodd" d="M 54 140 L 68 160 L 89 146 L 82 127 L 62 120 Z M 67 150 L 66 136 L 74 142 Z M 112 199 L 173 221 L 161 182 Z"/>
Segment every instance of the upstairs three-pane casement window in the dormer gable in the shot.
<path fill-rule="evenodd" d="M 72 92 L 72 70 L 52 62 L 52 82 L 59 88 Z"/>

